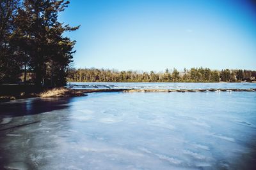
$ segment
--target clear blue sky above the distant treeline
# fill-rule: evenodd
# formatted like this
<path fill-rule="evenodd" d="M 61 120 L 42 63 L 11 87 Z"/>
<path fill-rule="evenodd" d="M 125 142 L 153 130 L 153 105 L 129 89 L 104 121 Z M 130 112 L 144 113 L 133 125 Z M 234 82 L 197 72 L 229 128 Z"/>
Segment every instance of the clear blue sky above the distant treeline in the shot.
<path fill-rule="evenodd" d="M 256 69 L 250 1 L 71 0 L 59 18 L 81 25 L 67 33 L 77 68 Z"/>

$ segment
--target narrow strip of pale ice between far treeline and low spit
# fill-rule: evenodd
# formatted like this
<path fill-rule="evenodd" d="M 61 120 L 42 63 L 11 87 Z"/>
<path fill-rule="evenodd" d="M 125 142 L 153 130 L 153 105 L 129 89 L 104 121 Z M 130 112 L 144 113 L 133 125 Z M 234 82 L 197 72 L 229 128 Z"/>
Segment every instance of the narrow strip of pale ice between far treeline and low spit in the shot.
<path fill-rule="evenodd" d="M 68 82 L 73 89 L 255 89 L 256 83 L 111 83 Z M 79 87 L 76 87 L 79 86 Z"/>

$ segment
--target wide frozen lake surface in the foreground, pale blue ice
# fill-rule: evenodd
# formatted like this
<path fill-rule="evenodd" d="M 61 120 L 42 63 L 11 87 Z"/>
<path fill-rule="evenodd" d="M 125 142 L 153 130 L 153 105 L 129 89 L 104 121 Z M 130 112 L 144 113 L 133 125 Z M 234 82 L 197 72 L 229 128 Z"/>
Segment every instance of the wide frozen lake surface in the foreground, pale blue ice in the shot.
<path fill-rule="evenodd" d="M 255 102 L 105 92 L 0 103 L 0 169 L 255 169 Z"/>

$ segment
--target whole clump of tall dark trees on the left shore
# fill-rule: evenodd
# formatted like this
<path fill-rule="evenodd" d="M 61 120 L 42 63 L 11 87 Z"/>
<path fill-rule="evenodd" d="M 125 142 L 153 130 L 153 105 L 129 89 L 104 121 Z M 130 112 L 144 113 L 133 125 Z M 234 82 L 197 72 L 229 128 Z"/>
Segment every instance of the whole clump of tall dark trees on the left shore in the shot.
<path fill-rule="evenodd" d="M 64 33 L 75 31 L 58 21 L 64 0 L 1 0 L 0 84 L 24 83 L 28 73 L 37 87 L 65 85 L 76 41 Z"/>

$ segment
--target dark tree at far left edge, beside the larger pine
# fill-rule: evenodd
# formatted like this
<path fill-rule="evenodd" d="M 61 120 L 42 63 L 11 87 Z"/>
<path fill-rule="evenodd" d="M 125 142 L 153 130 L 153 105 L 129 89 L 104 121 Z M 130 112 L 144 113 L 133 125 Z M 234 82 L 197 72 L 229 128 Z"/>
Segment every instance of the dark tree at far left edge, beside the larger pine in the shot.
<path fill-rule="evenodd" d="M 13 20 L 17 16 L 20 1 L 1 0 L 0 3 L 0 83 L 13 83 L 18 80 L 22 67 L 20 53 L 17 53 L 10 41 L 15 30 Z"/>

